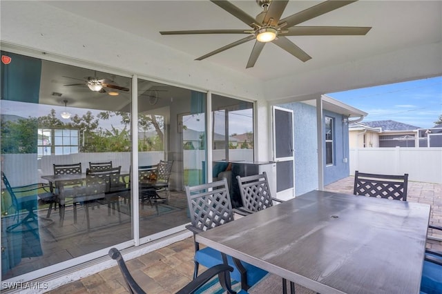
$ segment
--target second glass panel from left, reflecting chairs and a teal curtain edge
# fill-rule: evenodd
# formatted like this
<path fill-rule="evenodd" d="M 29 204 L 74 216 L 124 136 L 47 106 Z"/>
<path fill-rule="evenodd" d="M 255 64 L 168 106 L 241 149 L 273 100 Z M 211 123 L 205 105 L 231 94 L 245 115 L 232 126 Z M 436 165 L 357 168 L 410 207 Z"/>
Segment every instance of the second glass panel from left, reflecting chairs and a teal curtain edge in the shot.
<path fill-rule="evenodd" d="M 189 222 L 184 186 L 204 180 L 205 101 L 201 92 L 138 80 L 141 237 Z"/>

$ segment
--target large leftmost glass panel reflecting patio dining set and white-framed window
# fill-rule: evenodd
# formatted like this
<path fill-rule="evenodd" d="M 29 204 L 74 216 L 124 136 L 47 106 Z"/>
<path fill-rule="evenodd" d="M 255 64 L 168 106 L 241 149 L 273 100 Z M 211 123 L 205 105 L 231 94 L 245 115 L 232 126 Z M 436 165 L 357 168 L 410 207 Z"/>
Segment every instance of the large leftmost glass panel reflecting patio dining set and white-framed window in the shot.
<path fill-rule="evenodd" d="M 1 182 L 4 281 L 70 259 L 74 265 L 75 257 L 133 238 L 131 79 L 1 54 L 12 58 L 1 64 L 1 171 L 12 190 L 31 185 L 15 192 L 14 201 L 6 181 Z M 93 79 L 122 90 L 112 89 L 118 96 L 108 95 L 106 87 L 91 91 L 87 84 Z M 61 119 L 64 111 L 70 119 Z M 112 161 L 121 172 L 91 181 L 86 175 L 90 161 Z M 81 163 L 76 182 L 54 176 L 54 164 L 76 163 Z"/>

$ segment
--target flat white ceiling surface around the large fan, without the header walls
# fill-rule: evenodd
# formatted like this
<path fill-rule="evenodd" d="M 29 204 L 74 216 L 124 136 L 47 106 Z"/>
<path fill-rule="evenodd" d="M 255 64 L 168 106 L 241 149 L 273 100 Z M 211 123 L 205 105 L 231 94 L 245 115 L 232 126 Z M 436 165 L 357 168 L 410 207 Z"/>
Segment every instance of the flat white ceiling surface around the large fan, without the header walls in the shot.
<path fill-rule="evenodd" d="M 255 17 L 261 8 L 254 0 L 231 1 Z M 309 8 L 321 1 L 290 1 L 282 14 Z M 46 4 L 121 31 L 180 50 L 195 59 L 242 39 L 244 35 L 162 36 L 160 30 L 249 29 L 242 21 L 210 1 L 46 1 Z M 268 43 L 256 65 L 246 69 L 254 41 L 204 59 L 206 63 L 244 72 L 258 79 L 278 79 L 327 68 L 376 55 L 440 43 L 442 1 L 357 1 L 301 23 L 302 26 L 371 26 L 365 36 L 289 37 L 312 59 L 303 63 L 278 46 Z M 90 28 L 89 33 L 93 33 Z"/>

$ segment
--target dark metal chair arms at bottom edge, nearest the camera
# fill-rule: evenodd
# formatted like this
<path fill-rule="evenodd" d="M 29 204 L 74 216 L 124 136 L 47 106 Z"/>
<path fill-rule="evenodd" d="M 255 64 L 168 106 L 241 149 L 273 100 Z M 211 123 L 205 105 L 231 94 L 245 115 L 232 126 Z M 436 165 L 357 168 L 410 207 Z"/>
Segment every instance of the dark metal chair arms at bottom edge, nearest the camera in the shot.
<path fill-rule="evenodd" d="M 124 282 L 126 282 L 129 293 L 145 294 L 146 292 L 140 287 L 139 284 L 137 284 L 131 273 L 129 273 L 122 254 L 118 251 L 118 249 L 111 248 L 108 254 L 112 259 L 115 259 L 117 261 L 119 270 L 122 272 Z M 227 282 L 227 280 L 229 279 L 229 272 L 231 271 L 233 271 L 233 268 L 226 264 L 215 265 L 209 268 L 207 271 L 204 271 L 204 273 L 202 273 L 202 275 L 200 275 L 197 279 L 193 280 L 192 282 L 181 288 L 179 291 L 177 291 L 177 294 L 195 293 L 195 291 L 206 284 L 206 282 L 209 282 L 209 280 L 215 277 L 215 275 L 218 275 L 218 280 L 220 281 L 220 284 L 222 288 L 224 288 L 224 290 L 226 290 L 228 293 L 235 293 L 231 290 Z"/>

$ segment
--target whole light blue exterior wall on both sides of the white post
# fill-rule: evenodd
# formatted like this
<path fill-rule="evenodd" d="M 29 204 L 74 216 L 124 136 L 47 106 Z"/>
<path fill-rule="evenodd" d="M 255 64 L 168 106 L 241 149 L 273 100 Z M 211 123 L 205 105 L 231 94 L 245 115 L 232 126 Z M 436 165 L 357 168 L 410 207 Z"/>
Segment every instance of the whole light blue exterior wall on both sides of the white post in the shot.
<path fill-rule="evenodd" d="M 318 141 L 316 134 L 316 108 L 301 102 L 278 105 L 294 111 L 294 146 L 295 146 L 295 195 L 302 195 L 318 189 Z M 334 118 L 334 164 L 324 168 L 324 184 L 336 182 L 349 175 L 348 124 L 343 123 L 343 115 L 327 110 L 325 117 Z M 325 135 L 323 135 L 323 157 L 325 162 Z M 344 162 L 344 159 L 347 162 Z"/>

